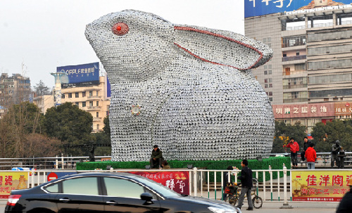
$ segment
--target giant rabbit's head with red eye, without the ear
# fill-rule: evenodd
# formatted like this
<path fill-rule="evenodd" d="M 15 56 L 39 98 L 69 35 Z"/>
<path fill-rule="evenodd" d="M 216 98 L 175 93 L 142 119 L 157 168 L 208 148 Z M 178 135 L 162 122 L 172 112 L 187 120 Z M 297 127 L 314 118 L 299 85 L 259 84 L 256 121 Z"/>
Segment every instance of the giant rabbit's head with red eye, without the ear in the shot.
<path fill-rule="evenodd" d="M 110 13 L 86 27 L 85 35 L 109 75 L 129 80 L 152 77 L 170 64 L 172 24 L 151 13 Z M 110 73 L 109 73 L 110 74 Z"/>

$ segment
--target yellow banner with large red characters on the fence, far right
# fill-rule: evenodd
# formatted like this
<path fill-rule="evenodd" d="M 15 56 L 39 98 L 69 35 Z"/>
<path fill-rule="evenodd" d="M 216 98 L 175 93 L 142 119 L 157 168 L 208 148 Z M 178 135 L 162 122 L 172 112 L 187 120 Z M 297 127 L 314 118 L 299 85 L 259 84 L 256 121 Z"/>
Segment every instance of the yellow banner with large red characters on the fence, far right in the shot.
<path fill-rule="evenodd" d="M 339 202 L 349 191 L 349 171 L 303 171 L 291 172 L 293 201 Z"/>

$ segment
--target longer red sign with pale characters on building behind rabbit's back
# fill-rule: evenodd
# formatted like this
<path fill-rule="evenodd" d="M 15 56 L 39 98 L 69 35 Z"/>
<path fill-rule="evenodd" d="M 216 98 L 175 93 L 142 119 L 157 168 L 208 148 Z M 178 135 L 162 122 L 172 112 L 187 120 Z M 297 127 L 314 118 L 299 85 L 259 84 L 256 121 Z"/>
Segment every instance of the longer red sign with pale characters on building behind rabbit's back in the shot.
<path fill-rule="evenodd" d="M 334 103 L 306 103 L 272 105 L 275 119 L 295 117 L 332 117 L 335 115 Z"/>

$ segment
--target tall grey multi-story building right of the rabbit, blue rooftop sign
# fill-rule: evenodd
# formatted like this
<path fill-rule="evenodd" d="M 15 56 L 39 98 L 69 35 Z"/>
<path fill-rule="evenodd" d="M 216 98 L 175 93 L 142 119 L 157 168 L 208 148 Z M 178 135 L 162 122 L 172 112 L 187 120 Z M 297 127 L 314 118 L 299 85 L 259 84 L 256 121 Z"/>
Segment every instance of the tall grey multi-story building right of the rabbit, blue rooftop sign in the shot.
<path fill-rule="evenodd" d="M 246 36 L 274 51 L 253 75 L 275 118 L 301 122 L 308 132 L 316 122 L 351 118 L 351 1 L 246 0 L 245 7 Z"/>

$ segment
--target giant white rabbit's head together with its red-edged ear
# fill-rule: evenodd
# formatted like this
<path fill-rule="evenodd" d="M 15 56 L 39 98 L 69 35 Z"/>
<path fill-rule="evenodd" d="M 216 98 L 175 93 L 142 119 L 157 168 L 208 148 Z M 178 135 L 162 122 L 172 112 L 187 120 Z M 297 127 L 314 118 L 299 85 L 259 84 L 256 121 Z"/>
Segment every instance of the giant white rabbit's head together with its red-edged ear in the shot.
<path fill-rule="evenodd" d="M 146 80 L 163 72 L 178 56 L 238 70 L 257 67 L 272 57 L 268 46 L 241 34 L 174 25 L 142 11 L 104 15 L 87 25 L 85 34 L 112 83 L 115 78 Z"/>

